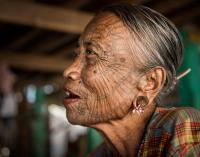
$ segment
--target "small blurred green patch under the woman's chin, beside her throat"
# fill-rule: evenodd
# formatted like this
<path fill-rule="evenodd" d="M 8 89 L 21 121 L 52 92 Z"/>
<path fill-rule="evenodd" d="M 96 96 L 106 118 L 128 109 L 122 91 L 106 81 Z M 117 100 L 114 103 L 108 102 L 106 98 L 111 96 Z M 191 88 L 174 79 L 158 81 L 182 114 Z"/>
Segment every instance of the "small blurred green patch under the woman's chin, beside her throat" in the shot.
<path fill-rule="evenodd" d="M 102 136 L 95 130 L 88 128 L 88 153 L 102 143 Z"/>

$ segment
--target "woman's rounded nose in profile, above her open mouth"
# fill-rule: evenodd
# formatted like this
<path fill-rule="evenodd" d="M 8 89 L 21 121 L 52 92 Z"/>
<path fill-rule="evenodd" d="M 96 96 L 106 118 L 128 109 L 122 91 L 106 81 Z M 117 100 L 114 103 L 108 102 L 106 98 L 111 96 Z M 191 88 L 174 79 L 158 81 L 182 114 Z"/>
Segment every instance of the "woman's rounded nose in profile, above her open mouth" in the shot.
<path fill-rule="evenodd" d="M 70 80 L 79 80 L 80 79 L 80 73 L 81 73 L 81 66 L 80 63 L 74 62 L 72 65 L 68 68 L 66 68 L 63 72 L 63 76 L 66 79 Z"/>

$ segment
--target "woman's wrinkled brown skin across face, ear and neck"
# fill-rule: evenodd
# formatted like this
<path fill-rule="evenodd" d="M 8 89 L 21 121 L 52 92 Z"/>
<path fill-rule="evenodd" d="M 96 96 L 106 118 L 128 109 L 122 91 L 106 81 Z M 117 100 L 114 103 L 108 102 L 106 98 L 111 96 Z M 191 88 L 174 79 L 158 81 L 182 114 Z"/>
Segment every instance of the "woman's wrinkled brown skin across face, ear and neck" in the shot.
<path fill-rule="evenodd" d="M 138 72 L 138 50 L 123 22 L 112 13 L 101 13 L 86 27 L 75 61 L 64 71 L 64 88 L 80 97 L 65 104 L 68 120 L 100 131 L 114 156 L 136 156 L 156 109 L 154 98 L 165 82 L 162 67 Z M 142 114 L 131 112 L 138 96 L 148 99 Z"/>

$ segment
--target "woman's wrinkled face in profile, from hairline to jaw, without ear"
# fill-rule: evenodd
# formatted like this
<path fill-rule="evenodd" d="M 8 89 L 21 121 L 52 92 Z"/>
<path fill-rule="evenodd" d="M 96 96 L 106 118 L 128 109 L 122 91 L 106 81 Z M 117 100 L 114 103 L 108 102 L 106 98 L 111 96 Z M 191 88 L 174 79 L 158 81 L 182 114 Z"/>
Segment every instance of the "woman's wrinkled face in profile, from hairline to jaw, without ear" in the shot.
<path fill-rule="evenodd" d="M 93 19 L 64 71 L 67 118 L 90 125 L 124 117 L 137 93 L 133 36 L 111 13 Z"/>

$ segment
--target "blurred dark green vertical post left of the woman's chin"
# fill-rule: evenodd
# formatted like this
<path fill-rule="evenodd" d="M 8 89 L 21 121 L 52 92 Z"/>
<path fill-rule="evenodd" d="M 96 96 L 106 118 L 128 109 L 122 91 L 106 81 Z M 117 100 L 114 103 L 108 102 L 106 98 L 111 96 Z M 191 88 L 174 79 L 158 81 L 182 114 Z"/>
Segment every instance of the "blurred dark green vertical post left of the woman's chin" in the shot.
<path fill-rule="evenodd" d="M 43 88 L 36 88 L 36 100 L 33 104 L 32 119 L 32 156 L 47 156 L 47 127 L 46 127 L 46 105 Z"/>

